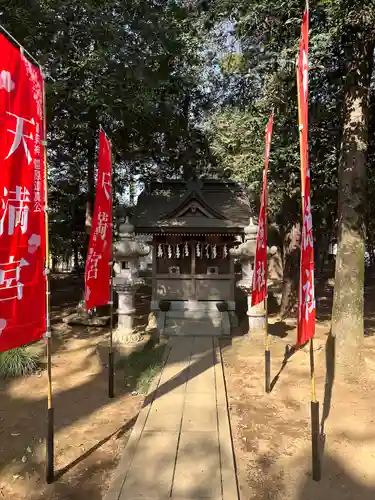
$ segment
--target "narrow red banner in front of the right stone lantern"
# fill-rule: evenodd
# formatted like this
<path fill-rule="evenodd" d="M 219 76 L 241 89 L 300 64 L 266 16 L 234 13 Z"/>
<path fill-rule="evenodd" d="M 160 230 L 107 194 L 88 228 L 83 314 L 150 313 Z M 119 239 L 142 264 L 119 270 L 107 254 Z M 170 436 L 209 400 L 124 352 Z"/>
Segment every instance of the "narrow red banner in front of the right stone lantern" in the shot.
<path fill-rule="evenodd" d="M 271 150 L 272 127 L 273 115 L 270 116 L 265 131 L 265 167 L 263 172 L 262 200 L 259 212 L 253 283 L 251 290 L 252 306 L 256 306 L 262 302 L 267 295 L 267 174 Z"/>

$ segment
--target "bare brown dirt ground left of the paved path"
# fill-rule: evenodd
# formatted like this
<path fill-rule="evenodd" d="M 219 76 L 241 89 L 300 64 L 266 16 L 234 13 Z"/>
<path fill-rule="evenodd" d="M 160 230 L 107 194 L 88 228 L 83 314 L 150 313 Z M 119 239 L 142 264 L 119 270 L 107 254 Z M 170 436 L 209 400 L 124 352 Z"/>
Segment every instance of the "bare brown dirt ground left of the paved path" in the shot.
<path fill-rule="evenodd" d="M 82 290 L 79 280 L 53 281 L 53 391 L 57 480 L 45 484 L 46 371 L 0 381 L 0 499 L 101 500 L 142 397 L 116 373 L 108 399 L 105 329 L 67 327 Z M 43 349 L 43 343 L 35 346 Z"/>

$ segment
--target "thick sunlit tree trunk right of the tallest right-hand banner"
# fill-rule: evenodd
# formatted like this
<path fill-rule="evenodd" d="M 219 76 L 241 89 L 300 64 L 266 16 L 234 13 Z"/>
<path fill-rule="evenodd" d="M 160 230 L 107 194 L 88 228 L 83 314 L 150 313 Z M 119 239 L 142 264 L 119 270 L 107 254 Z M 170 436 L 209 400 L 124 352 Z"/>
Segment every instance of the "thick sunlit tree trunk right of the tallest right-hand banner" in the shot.
<path fill-rule="evenodd" d="M 352 378 L 361 369 L 364 334 L 367 115 L 373 43 L 356 33 L 347 47 L 332 337 L 337 371 Z"/>

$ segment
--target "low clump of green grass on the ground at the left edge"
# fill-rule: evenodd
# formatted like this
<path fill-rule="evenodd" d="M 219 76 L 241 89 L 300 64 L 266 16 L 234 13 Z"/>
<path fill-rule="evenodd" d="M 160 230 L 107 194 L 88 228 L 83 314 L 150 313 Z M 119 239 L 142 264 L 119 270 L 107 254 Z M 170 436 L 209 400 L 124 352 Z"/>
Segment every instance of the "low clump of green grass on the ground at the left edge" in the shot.
<path fill-rule="evenodd" d="M 28 347 L 17 347 L 0 353 L 0 377 L 31 375 L 39 366 L 39 356 Z"/>

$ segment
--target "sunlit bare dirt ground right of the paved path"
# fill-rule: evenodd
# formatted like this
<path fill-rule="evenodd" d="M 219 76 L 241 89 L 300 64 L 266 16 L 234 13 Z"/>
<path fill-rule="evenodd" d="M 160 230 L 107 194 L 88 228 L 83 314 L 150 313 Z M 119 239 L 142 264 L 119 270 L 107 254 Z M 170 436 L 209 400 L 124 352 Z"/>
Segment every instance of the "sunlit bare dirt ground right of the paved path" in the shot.
<path fill-rule="evenodd" d="M 315 339 L 322 479 L 311 477 L 310 365 L 301 350 L 282 367 L 296 338 L 293 321 L 271 317 L 271 394 L 264 392 L 263 339 L 234 338 L 223 348 L 241 500 L 373 500 L 375 498 L 374 290 L 366 292 L 363 354 L 367 372 L 347 385 L 326 370 L 332 289 L 318 304 Z M 326 378 L 327 375 L 327 378 Z"/>

